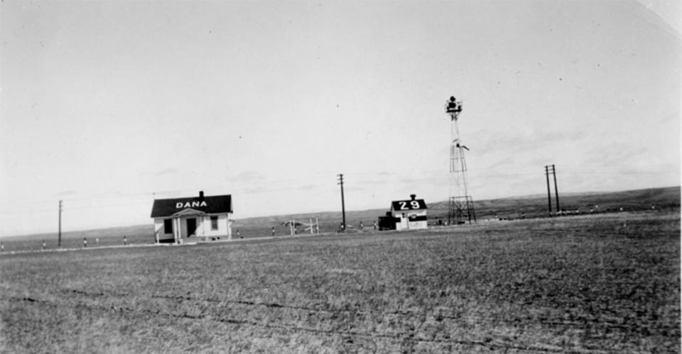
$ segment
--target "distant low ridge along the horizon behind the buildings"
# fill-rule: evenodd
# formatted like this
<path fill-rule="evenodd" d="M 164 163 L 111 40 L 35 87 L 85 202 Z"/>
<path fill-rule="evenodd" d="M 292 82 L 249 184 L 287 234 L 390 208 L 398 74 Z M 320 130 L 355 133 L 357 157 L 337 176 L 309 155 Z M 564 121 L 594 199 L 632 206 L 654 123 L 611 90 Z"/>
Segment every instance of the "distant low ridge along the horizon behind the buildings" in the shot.
<path fill-rule="evenodd" d="M 656 209 L 674 209 L 680 207 L 681 187 L 659 187 L 647 189 L 634 189 L 622 192 L 578 192 L 560 193 L 559 201 L 561 209 L 580 210 L 589 212 L 599 206 L 599 212 L 619 211 L 646 211 L 651 206 Z M 547 195 L 531 194 L 521 197 L 502 197 L 498 199 L 486 199 L 474 201 L 475 211 L 478 220 L 492 219 L 494 216 L 499 218 L 516 218 L 520 214 L 524 216 L 538 217 L 548 214 Z M 428 218 L 448 219 L 448 201 L 426 201 L 428 205 Z M 387 204 L 388 205 L 388 201 Z M 552 196 L 553 210 L 556 208 L 554 196 Z M 372 223 L 379 216 L 383 216 L 388 211 L 385 209 L 368 209 L 357 211 L 346 211 L 347 224 L 357 228 L 362 221 L 365 228 L 372 228 Z M 341 222 L 341 211 L 321 211 L 299 214 L 282 214 L 273 216 L 256 216 L 252 218 L 236 219 L 232 230 L 240 230 L 244 237 L 269 236 L 271 229 L 276 228 L 276 234 L 288 233 L 288 227 L 281 226 L 283 221 L 296 219 L 308 223 L 311 217 L 317 217 L 320 230 L 323 232 L 336 231 Z M 431 221 L 430 221 L 431 222 Z M 299 230 L 303 232 L 303 229 Z M 56 233 L 39 233 L 26 236 L 5 236 L 1 240 L 36 240 L 43 238 L 54 238 Z M 153 241 L 153 225 L 149 224 L 121 226 L 113 228 L 99 228 L 84 231 L 67 231 L 63 233 L 63 238 L 122 238 L 128 236 L 129 239 L 142 237 L 145 240 Z"/>

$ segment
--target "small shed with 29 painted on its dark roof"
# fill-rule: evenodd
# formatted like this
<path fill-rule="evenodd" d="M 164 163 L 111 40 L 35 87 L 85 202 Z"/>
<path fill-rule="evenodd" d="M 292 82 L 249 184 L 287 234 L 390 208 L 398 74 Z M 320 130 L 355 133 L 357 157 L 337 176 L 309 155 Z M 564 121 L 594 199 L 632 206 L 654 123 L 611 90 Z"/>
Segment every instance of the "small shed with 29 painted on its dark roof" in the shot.
<path fill-rule="evenodd" d="M 426 202 L 415 197 L 415 194 L 410 194 L 411 199 L 391 201 L 391 211 L 379 217 L 379 229 L 400 231 L 428 228 Z"/>

